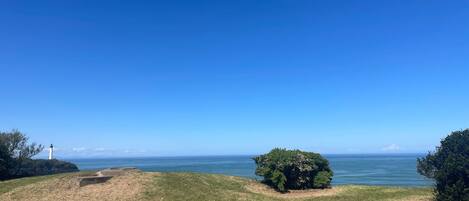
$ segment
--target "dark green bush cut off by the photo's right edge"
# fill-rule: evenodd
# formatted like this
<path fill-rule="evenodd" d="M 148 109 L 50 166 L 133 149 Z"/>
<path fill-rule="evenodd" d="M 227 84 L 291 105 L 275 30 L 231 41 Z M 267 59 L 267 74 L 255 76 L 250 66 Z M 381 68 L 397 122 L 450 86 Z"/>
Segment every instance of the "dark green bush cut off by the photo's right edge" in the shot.
<path fill-rule="evenodd" d="M 417 162 L 417 171 L 435 180 L 436 200 L 469 201 L 469 129 L 451 133 Z"/>

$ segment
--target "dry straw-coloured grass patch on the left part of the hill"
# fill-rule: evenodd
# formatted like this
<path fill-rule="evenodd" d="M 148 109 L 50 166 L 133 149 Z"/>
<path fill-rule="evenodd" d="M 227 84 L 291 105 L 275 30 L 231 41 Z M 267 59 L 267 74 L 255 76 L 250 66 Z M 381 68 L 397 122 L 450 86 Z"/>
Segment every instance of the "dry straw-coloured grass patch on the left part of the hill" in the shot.
<path fill-rule="evenodd" d="M 131 171 L 106 183 L 79 187 L 78 174 L 73 174 L 16 188 L 3 194 L 0 200 L 131 201 L 140 199 L 147 182 L 144 173 Z"/>

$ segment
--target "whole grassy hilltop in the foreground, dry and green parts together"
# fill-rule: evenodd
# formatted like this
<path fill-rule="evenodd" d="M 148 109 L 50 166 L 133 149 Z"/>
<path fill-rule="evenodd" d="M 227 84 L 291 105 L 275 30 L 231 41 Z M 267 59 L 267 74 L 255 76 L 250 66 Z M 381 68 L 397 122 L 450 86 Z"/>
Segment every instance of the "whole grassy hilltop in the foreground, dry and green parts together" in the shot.
<path fill-rule="evenodd" d="M 106 183 L 78 187 L 81 173 L 0 182 L 0 200 L 431 200 L 430 188 L 344 185 L 281 194 L 254 180 L 213 174 L 129 172 Z"/>

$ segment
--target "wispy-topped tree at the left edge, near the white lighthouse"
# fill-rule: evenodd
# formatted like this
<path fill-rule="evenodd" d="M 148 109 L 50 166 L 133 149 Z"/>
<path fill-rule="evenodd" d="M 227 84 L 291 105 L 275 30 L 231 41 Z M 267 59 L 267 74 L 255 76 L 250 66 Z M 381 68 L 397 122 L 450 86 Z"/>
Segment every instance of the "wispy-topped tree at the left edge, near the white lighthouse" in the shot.
<path fill-rule="evenodd" d="M 0 132 L 0 180 L 19 177 L 25 161 L 44 149 L 18 130 Z"/>

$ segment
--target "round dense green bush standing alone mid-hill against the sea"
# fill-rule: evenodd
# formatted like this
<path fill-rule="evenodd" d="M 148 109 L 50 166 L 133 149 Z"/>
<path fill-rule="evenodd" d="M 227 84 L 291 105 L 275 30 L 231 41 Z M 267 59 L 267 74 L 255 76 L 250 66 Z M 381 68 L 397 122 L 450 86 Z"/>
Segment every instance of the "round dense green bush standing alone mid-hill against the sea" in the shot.
<path fill-rule="evenodd" d="M 281 192 L 331 185 L 333 173 L 329 162 L 317 153 L 276 148 L 254 161 L 256 175 Z"/>

